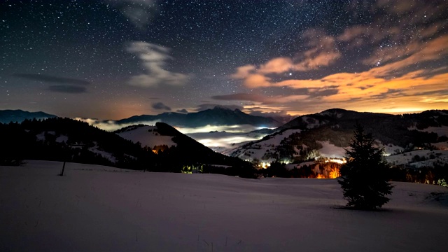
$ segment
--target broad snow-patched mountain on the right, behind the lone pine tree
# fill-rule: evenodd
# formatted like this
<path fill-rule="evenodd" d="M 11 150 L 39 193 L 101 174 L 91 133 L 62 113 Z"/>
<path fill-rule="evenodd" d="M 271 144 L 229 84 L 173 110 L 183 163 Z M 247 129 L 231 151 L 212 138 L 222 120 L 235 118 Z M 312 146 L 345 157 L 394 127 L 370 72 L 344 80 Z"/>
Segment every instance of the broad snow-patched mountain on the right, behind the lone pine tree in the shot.
<path fill-rule="evenodd" d="M 297 117 L 277 128 L 274 134 L 233 149 L 230 155 L 255 162 L 279 160 L 299 163 L 319 156 L 342 158 L 356 123 L 363 125 L 367 133 L 372 133 L 377 146 L 384 147 L 387 155 L 391 155 L 390 159 L 397 164 L 412 161 L 396 156 L 407 152 L 412 156 L 424 154 L 425 160 L 430 159 L 431 162 L 448 162 L 448 153 L 444 151 L 448 149 L 446 110 L 389 115 L 330 109 Z M 419 149 L 428 151 L 412 153 Z"/>

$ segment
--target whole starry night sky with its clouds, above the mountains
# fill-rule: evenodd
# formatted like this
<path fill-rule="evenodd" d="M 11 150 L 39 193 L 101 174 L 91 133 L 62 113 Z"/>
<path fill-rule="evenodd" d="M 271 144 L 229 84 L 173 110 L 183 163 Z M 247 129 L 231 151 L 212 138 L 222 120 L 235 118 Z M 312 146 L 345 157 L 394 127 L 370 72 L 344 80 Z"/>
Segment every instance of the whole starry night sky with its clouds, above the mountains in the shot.
<path fill-rule="evenodd" d="M 2 0 L 0 109 L 448 109 L 448 1 Z"/>

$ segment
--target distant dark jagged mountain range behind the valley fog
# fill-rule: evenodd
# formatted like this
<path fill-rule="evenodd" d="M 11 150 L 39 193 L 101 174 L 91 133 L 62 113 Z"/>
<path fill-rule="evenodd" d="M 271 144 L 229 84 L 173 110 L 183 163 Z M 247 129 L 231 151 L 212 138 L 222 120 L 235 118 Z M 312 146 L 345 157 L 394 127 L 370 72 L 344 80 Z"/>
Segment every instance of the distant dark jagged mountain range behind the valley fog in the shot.
<path fill-rule="evenodd" d="M 162 122 L 179 127 L 203 127 L 207 125 L 255 125 L 259 127 L 278 127 L 281 125 L 272 118 L 251 116 L 239 109 L 226 109 L 216 106 L 195 113 L 161 113 L 157 116 L 132 116 L 116 121 L 118 124 L 140 124 L 146 122 Z"/>

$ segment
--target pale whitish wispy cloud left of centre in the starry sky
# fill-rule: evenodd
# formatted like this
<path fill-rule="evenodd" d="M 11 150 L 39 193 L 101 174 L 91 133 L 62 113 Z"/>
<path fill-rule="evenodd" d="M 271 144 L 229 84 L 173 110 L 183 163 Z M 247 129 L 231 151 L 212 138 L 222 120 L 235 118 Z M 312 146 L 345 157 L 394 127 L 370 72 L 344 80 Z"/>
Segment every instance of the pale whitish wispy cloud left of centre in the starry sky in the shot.
<path fill-rule="evenodd" d="M 165 70 L 169 56 L 169 48 L 153 43 L 135 41 L 130 43 L 126 50 L 141 59 L 146 73 L 132 76 L 128 81 L 130 85 L 140 87 L 156 87 L 158 85 L 183 85 L 188 81 L 188 76 L 183 73 L 175 73 Z"/>

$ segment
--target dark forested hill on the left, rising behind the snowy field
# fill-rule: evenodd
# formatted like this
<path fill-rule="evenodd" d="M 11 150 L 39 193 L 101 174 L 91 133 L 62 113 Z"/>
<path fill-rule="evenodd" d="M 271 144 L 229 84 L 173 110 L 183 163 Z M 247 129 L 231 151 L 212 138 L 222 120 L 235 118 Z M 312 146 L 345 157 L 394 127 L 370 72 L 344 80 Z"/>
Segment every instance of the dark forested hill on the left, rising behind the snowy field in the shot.
<path fill-rule="evenodd" d="M 54 160 L 142 169 L 153 159 L 152 152 L 139 144 L 70 118 L 0 124 L 0 137 L 1 165 L 13 165 L 18 160 Z M 111 153 L 114 160 L 90 151 L 92 147 Z"/>

